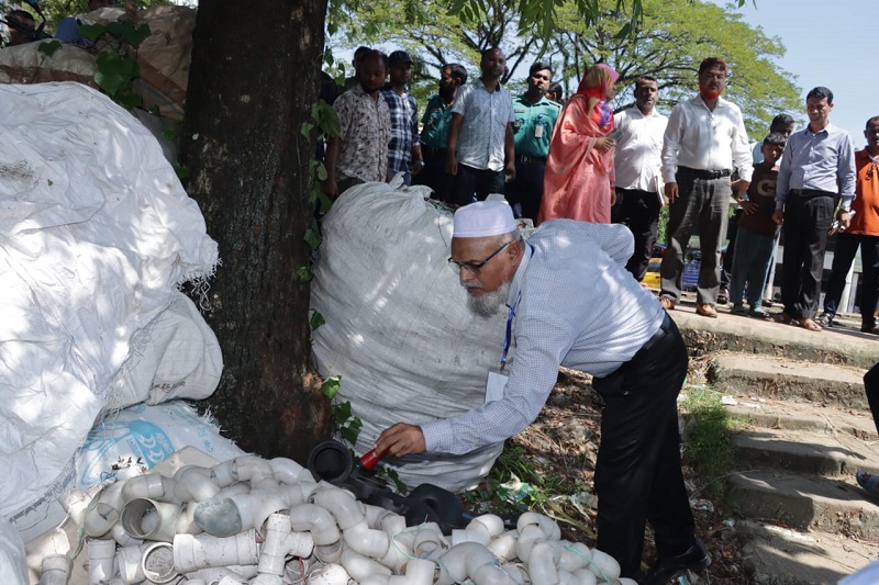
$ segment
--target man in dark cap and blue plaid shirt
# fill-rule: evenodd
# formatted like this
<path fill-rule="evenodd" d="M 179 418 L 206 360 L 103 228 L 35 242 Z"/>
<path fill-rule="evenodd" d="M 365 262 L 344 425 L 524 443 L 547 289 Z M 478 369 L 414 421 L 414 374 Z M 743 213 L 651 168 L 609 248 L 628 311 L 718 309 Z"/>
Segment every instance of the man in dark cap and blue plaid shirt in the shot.
<path fill-rule="evenodd" d="M 407 85 L 412 79 L 412 57 L 405 50 L 394 50 L 388 57 L 390 81 L 381 97 L 391 112 L 391 142 L 388 144 L 388 180 L 403 173 L 403 183 L 411 184 L 412 176 L 424 168 L 419 143 L 419 106 Z"/>

